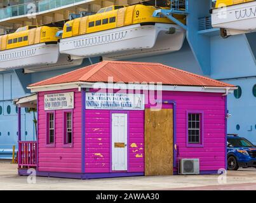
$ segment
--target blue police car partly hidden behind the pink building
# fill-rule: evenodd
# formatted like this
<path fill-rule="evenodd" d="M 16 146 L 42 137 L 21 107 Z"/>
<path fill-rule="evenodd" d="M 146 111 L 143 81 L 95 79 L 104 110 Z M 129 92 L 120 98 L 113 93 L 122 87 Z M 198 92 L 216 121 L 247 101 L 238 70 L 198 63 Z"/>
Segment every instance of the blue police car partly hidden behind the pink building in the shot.
<path fill-rule="evenodd" d="M 237 134 L 227 135 L 227 169 L 256 167 L 256 147 Z"/>

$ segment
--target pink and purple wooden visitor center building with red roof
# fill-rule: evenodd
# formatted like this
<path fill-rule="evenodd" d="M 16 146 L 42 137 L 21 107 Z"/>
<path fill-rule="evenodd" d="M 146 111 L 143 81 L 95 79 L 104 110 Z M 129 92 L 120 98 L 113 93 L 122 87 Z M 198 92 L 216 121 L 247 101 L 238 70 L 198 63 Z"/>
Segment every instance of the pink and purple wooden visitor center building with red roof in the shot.
<path fill-rule="evenodd" d="M 19 140 L 21 175 L 30 167 L 81 179 L 177 174 L 184 158 L 199 159 L 200 174 L 226 168 L 230 84 L 159 63 L 105 61 L 29 89 L 36 95 L 16 103 L 18 112 L 37 105 L 37 141 Z"/>

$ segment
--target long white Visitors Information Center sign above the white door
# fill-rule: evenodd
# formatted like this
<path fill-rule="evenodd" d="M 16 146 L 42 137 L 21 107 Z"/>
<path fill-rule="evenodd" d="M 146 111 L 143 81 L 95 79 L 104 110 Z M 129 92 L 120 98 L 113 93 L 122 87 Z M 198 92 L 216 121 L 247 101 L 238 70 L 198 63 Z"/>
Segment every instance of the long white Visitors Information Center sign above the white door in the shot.
<path fill-rule="evenodd" d="M 144 110 L 144 95 L 126 93 L 86 93 L 86 109 Z"/>

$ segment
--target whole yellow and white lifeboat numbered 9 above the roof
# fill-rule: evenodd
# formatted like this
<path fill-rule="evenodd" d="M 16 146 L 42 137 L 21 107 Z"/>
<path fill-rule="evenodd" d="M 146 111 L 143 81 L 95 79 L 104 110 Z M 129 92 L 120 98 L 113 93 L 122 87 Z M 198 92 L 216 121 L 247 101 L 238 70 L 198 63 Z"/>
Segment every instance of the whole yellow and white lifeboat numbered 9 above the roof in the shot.
<path fill-rule="evenodd" d="M 125 59 L 159 55 L 181 48 L 185 30 L 165 17 L 153 17 L 154 6 L 109 6 L 95 15 L 64 25 L 60 53 L 72 58 L 105 56 Z M 178 15 L 185 23 L 185 16 Z"/>

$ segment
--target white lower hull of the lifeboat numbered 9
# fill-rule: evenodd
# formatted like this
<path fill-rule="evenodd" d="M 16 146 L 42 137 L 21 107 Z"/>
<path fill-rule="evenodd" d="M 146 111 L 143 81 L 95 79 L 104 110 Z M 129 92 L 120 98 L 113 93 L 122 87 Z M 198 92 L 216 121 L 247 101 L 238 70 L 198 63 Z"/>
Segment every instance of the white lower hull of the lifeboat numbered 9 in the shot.
<path fill-rule="evenodd" d="M 170 30 L 174 33 L 170 34 Z M 178 51 L 185 39 L 185 30 L 178 25 L 130 25 L 100 33 L 77 36 L 60 41 L 60 53 L 76 59 L 92 56 L 128 59 L 161 55 Z"/>

